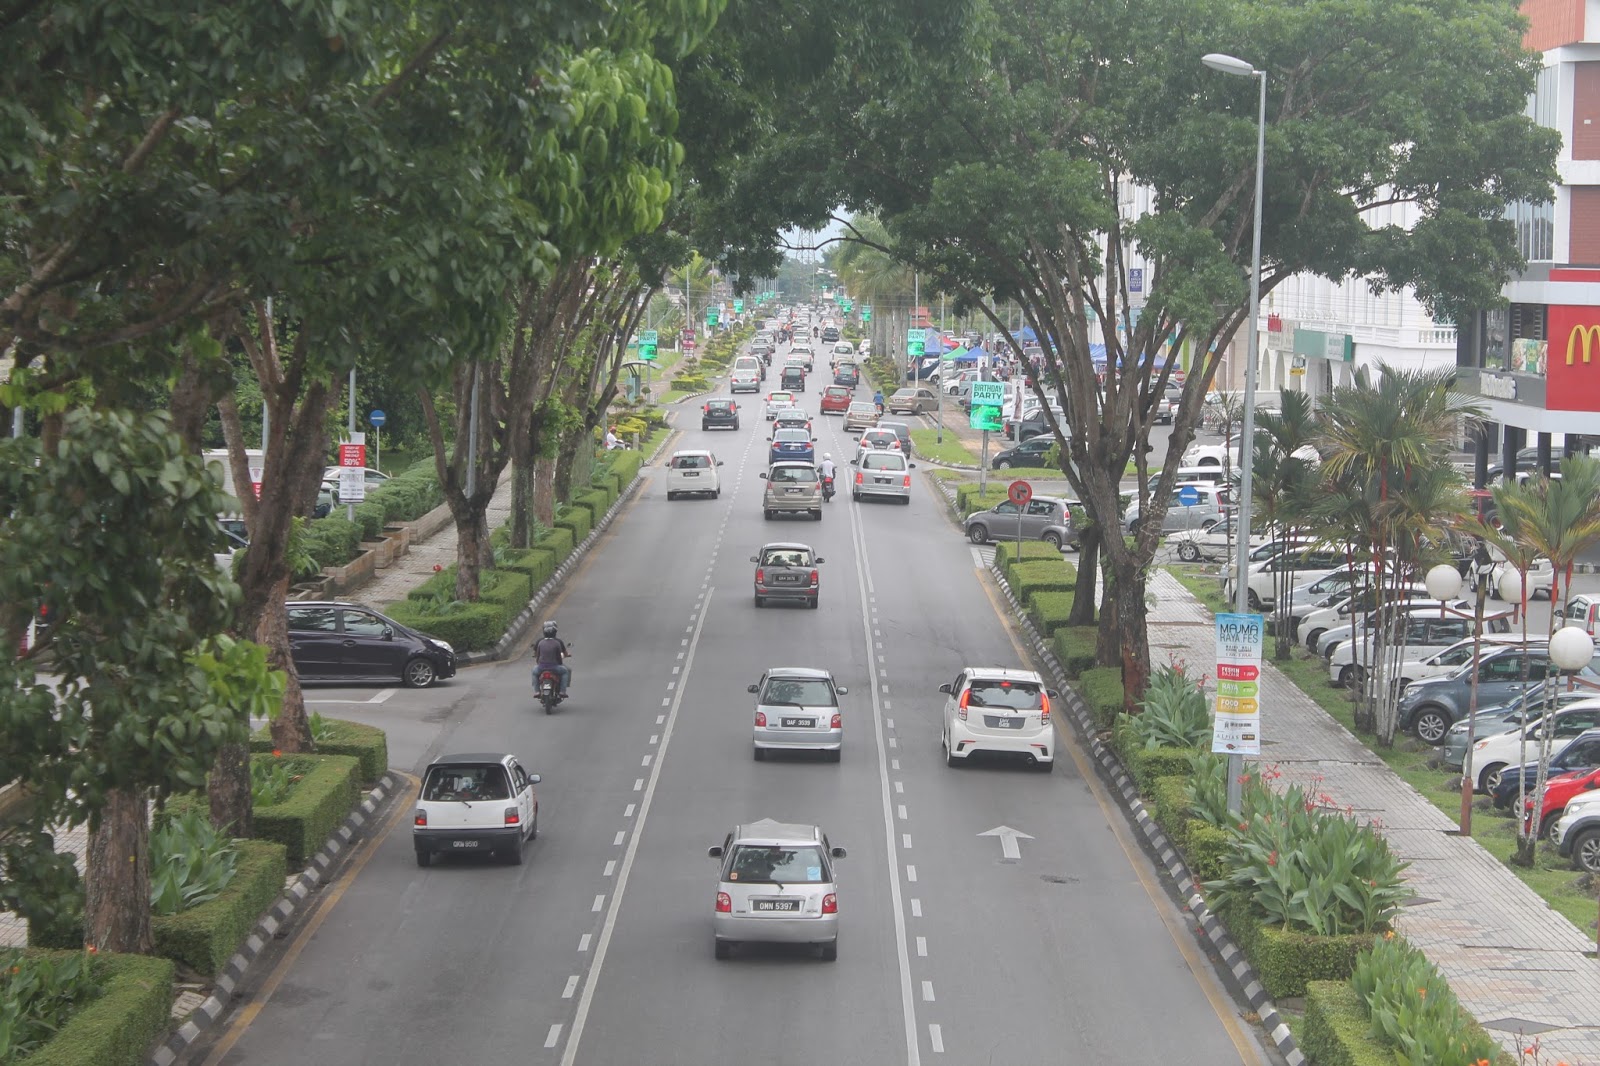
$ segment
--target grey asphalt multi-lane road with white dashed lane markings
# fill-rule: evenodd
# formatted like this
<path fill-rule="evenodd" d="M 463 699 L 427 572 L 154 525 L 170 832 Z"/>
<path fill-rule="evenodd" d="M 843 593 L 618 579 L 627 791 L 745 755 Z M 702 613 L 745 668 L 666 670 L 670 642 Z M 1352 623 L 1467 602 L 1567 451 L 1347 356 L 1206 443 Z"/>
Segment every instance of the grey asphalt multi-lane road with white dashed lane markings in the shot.
<path fill-rule="evenodd" d="M 763 522 L 765 423 L 746 411 L 739 431 L 691 424 L 677 443 L 723 458 L 718 499 L 645 485 L 568 579 L 550 613 L 574 679 L 555 715 L 525 663 L 378 703 L 309 693 L 390 728 L 397 767 L 517 752 L 542 775 L 539 839 L 523 866 L 419 869 L 398 804 L 189 1061 L 1270 1061 L 1064 723 L 1075 759 L 1054 773 L 944 765 L 939 683 L 1022 659 L 931 487 L 910 506 L 842 491 L 821 523 Z M 848 459 L 837 418 L 818 435 Z M 826 557 L 819 610 L 754 607 L 749 555 L 770 539 Z M 774 664 L 850 687 L 840 763 L 750 757 L 746 685 Z M 848 848 L 838 962 L 712 957 L 706 848 L 758 818 Z M 1016 858 L 984 836 L 1002 826 L 1027 834 Z"/>

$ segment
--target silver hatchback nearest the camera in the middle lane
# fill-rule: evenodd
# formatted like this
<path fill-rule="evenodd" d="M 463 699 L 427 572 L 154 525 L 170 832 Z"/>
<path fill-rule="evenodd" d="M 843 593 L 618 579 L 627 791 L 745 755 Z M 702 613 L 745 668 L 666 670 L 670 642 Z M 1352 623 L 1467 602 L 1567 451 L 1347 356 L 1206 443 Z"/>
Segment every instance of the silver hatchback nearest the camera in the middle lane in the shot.
<path fill-rule="evenodd" d="M 726 959 L 741 943 L 814 944 L 826 962 L 838 957 L 838 887 L 829 845 L 818 826 L 763 818 L 734 826 L 720 845 L 712 911 L 715 956 Z"/>

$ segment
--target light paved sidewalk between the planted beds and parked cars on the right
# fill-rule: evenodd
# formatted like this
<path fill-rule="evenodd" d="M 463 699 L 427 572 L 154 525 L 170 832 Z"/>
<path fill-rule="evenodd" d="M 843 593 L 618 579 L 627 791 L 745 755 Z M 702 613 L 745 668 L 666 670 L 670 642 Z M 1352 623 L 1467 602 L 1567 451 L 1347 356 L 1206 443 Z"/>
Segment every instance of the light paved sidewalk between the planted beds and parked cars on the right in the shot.
<path fill-rule="evenodd" d="M 1211 613 L 1165 570 L 1150 575 L 1150 659 L 1216 663 Z M 1600 1066 L 1600 962 L 1592 935 L 1549 909 L 1498 858 L 1389 770 L 1269 659 L 1262 661 L 1262 765 L 1283 784 L 1349 804 L 1411 868 L 1416 898 L 1397 928 L 1443 972 L 1461 1005 L 1514 1055 L 1539 1039 L 1542 1063 Z M 1573 872 L 1578 877 L 1578 872 Z"/>

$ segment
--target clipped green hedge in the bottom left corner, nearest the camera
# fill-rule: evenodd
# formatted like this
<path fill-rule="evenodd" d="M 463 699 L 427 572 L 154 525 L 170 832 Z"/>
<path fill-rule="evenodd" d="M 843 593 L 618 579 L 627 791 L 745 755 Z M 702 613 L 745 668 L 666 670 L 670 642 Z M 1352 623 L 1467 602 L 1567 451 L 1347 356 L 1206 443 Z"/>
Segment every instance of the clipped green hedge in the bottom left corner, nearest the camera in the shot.
<path fill-rule="evenodd" d="M 107 952 L 94 956 L 93 967 L 102 983 L 99 997 L 74 1012 L 27 1056 L 27 1066 L 144 1066 L 152 1045 L 171 1029 L 171 959 Z"/>

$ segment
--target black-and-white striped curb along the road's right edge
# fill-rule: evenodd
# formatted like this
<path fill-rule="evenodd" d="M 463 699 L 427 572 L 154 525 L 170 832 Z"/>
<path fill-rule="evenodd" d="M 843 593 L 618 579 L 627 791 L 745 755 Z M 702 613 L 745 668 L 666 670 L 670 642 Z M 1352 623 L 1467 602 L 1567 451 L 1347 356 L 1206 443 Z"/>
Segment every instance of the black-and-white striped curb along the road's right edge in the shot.
<path fill-rule="evenodd" d="M 1072 723 L 1088 744 L 1094 762 L 1099 763 L 1101 773 L 1117 787 L 1117 792 L 1122 795 L 1123 807 L 1128 808 L 1134 824 L 1155 852 L 1162 869 L 1178 887 L 1178 892 L 1184 900 L 1184 908 L 1194 914 L 1195 922 L 1200 924 L 1200 930 L 1206 935 L 1206 940 L 1211 941 L 1211 946 L 1216 948 L 1218 956 L 1222 959 L 1222 965 L 1226 965 L 1234 975 L 1234 980 L 1238 981 L 1238 988 L 1245 992 L 1250 1008 L 1261 1020 L 1261 1028 L 1266 1029 L 1267 1037 L 1272 1040 L 1274 1047 L 1277 1047 L 1278 1053 L 1283 1055 L 1288 1066 L 1306 1066 L 1306 1055 L 1299 1050 L 1299 1045 L 1294 1042 L 1294 1034 L 1290 1032 L 1288 1024 L 1278 1015 L 1278 1008 L 1274 1005 L 1272 997 L 1267 996 L 1267 989 L 1261 988 L 1261 981 L 1256 980 L 1256 972 L 1245 957 L 1245 952 L 1240 951 L 1238 944 L 1234 943 L 1234 938 L 1229 936 L 1227 927 L 1222 925 L 1222 920 L 1211 912 L 1211 908 L 1206 904 L 1205 896 L 1195 885 L 1194 876 L 1184 864 L 1178 848 L 1166 839 L 1166 832 L 1160 828 L 1160 824 L 1157 824 L 1155 818 L 1150 816 L 1150 812 L 1144 808 L 1144 802 L 1139 799 L 1139 791 L 1134 786 L 1133 778 L 1128 776 L 1122 760 L 1117 759 L 1117 754 L 1109 746 L 1099 741 L 1099 736 L 1096 736 L 1094 722 L 1090 719 L 1088 706 L 1082 698 L 1078 698 L 1077 690 L 1067 683 L 1066 671 L 1061 669 L 1061 661 L 1056 658 L 1054 650 L 1046 640 L 1040 639 L 1038 632 L 1034 629 L 1034 623 L 1027 619 L 1027 615 L 1022 611 L 1022 605 L 1018 603 L 1016 595 L 1011 592 L 1010 583 L 992 563 L 990 573 L 994 573 L 995 583 L 1000 586 L 1000 592 L 1005 595 L 1006 603 L 1010 603 L 1011 613 L 1016 616 L 1016 623 L 1027 637 L 1034 655 L 1037 655 L 1050 667 L 1051 677 L 1054 677 L 1056 683 L 1066 693 L 1066 704 L 1070 711 L 1069 717 L 1072 719 Z"/>

